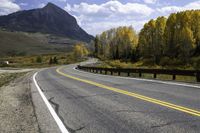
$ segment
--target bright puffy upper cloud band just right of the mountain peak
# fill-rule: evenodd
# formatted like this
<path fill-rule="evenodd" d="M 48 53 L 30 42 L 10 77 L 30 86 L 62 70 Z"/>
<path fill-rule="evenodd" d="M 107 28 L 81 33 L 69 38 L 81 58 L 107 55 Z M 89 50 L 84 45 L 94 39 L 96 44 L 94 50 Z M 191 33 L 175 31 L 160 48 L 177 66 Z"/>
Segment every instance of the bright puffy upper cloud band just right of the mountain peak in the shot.
<path fill-rule="evenodd" d="M 80 3 L 79 5 L 75 4 L 73 6 L 67 5 L 65 7 L 67 11 L 72 11 L 76 13 L 82 13 L 85 15 L 98 14 L 109 17 L 113 14 L 138 14 L 138 15 L 150 15 L 153 10 L 144 4 L 138 3 L 126 3 L 122 4 L 119 1 L 111 0 L 106 3 L 97 5 L 97 4 L 88 4 Z"/>

